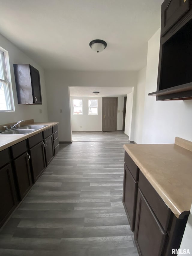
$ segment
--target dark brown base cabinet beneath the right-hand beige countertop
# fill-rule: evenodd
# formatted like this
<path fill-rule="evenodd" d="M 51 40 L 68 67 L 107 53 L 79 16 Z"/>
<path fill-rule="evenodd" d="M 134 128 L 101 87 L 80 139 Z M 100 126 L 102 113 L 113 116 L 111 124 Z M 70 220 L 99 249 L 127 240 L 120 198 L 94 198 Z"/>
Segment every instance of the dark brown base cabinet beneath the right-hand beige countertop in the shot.
<path fill-rule="evenodd" d="M 171 256 L 179 249 L 189 214 L 177 218 L 127 152 L 123 204 L 140 256 Z"/>

